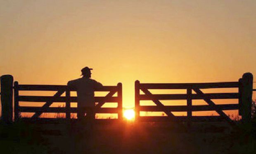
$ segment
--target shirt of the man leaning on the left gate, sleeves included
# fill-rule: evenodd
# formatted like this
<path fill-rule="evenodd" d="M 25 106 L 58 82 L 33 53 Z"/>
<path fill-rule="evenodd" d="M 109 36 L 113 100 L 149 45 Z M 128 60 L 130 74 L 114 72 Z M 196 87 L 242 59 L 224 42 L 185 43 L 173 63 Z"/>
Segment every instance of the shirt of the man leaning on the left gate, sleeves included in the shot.
<path fill-rule="evenodd" d="M 67 85 L 76 89 L 78 108 L 95 106 L 94 91 L 102 87 L 96 80 L 85 77 L 71 80 Z"/>

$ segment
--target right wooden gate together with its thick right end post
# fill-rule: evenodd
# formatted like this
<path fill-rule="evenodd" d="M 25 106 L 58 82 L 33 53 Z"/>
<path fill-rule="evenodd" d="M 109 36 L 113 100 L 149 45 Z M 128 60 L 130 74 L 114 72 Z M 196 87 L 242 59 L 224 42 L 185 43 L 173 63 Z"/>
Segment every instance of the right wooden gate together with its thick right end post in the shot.
<path fill-rule="evenodd" d="M 209 88 L 238 88 L 236 93 L 204 93 L 201 89 Z M 152 94 L 149 90 L 183 89 L 186 94 Z M 140 90 L 145 94 L 140 94 Z M 195 94 L 192 94 L 192 91 Z M 239 110 L 242 119 L 250 120 L 251 117 L 252 75 L 244 75 L 239 82 L 221 83 L 140 83 L 135 81 L 135 119 L 138 121 L 222 121 L 230 124 L 234 122 L 223 110 Z M 192 105 L 192 100 L 203 99 L 208 105 Z M 237 103 L 216 105 L 212 99 L 238 99 Z M 140 101 L 151 100 L 156 106 L 141 106 Z M 161 100 L 187 100 L 186 106 L 164 106 Z M 140 111 L 164 112 L 167 116 L 140 116 Z M 192 116 L 192 111 L 216 111 L 218 116 Z M 187 112 L 187 116 L 175 116 L 171 112 Z"/>

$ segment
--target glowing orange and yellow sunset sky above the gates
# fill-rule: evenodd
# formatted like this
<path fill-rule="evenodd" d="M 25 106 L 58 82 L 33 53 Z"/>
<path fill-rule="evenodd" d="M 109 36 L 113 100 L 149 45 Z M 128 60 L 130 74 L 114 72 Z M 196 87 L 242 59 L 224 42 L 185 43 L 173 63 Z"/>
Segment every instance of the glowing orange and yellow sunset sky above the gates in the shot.
<path fill-rule="evenodd" d="M 0 0 L 0 75 L 64 85 L 237 81 L 256 74 L 255 0 Z M 254 86 L 255 88 L 255 86 Z"/>

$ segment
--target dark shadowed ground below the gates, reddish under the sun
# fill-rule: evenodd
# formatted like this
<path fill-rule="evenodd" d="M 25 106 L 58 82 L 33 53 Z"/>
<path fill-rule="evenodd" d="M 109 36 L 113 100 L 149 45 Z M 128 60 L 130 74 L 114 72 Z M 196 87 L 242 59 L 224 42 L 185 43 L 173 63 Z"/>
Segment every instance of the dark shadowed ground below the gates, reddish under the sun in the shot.
<path fill-rule="evenodd" d="M 255 126 L 254 126 L 255 128 Z M 255 154 L 252 125 L 231 128 L 223 122 L 193 123 L 191 129 L 170 123 L 97 124 L 78 132 L 65 124 L 1 124 L 1 154 L 190 153 Z"/>

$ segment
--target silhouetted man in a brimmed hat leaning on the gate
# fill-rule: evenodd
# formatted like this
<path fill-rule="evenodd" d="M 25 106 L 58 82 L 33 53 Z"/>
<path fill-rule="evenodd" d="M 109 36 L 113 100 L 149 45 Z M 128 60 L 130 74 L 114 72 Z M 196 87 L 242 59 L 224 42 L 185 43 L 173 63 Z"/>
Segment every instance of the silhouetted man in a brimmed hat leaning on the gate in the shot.
<path fill-rule="evenodd" d="M 95 99 L 94 91 L 102 87 L 102 84 L 96 80 L 91 79 L 91 70 L 89 67 L 81 69 L 82 78 L 71 80 L 68 82 L 68 87 L 76 89 L 77 92 L 77 107 L 78 120 L 86 119 L 92 121 L 95 119 Z M 86 109 L 86 116 L 85 116 Z"/>

